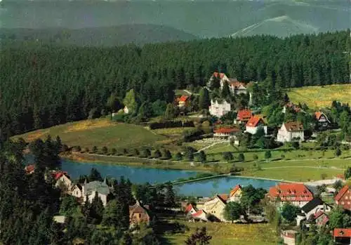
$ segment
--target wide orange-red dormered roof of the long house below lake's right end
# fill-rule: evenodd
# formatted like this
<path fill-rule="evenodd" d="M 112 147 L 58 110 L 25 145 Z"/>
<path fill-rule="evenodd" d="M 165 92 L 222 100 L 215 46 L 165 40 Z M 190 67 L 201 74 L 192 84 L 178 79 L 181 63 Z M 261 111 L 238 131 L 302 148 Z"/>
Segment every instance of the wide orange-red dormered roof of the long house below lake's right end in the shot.
<path fill-rule="evenodd" d="M 270 187 L 268 194 L 271 198 L 279 197 L 282 201 L 311 201 L 313 199 L 312 192 L 302 183 L 280 183 Z"/>

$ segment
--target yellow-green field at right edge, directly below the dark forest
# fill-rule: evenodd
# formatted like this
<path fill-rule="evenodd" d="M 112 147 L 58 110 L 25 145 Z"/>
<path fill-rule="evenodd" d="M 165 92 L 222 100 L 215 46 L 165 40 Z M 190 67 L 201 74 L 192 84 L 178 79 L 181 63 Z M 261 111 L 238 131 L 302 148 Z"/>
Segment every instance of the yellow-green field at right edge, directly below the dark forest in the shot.
<path fill-rule="evenodd" d="M 291 88 L 288 95 L 292 102 L 315 109 L 330 107 L 333 100 L 351 104 L 351 84 Z"/>

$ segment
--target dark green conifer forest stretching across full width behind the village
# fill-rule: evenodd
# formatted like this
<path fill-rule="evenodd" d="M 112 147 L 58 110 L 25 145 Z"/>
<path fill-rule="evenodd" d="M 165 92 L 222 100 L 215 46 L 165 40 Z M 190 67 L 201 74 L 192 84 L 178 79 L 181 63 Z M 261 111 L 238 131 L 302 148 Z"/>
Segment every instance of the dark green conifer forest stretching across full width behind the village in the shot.
<path fill-rule="evenodd" d="M 107 98 L 134 89 L 138 105 L 171 102 L 174 88 L 204 86 L 219 70 L 242 81 L 271 81 L 272 88 L 349 82 L 350 30 L 286 39 L 237 39 L 79 48 L 38 42 L 2 46 L 0 126 L 18 134 L 85 119 Z"/>

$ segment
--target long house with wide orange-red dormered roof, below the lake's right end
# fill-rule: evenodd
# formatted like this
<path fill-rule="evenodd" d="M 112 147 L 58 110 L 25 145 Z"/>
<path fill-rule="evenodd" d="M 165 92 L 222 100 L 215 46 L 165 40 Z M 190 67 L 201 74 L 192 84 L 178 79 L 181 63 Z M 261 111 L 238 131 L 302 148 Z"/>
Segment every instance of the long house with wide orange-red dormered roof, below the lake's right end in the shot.
<path fill-rule="evenodd" d="M 303 183 L 279 183 L 270 187 L 267 197 L 271 201 L 277 201 L 279 206 L 289 203 L 293 206 L 303 207 L 312 201 L 313 194 Z"/>

